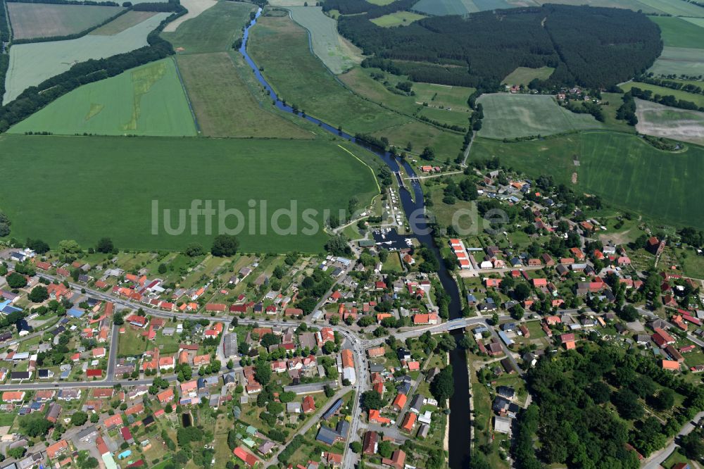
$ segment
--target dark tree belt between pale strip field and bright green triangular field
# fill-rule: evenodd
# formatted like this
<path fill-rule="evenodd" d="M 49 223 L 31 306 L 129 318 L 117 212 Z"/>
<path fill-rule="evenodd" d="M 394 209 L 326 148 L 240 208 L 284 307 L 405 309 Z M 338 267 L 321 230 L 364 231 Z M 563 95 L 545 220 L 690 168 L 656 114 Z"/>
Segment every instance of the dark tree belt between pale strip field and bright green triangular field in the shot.
<path fill-rule="evenodd" d="M 146 38 L 148 46 L 125 54 L 77 63 L 67 72 L 55 75 L 37 86 L 25 89 L 17 99 L 0 108 L 0 132 L 6 132 L 12 125 L 81 85 L 114 77 L 130 68 L 173 55 L 172 45 L 162 39 L 159 34 L 167 23 L 184 15 L 187 10 L 180 4 L 169 2 L 168 5 L 174 13 L 149 33 Z M 146 6 L 142 8 L 156 7 Z"/>

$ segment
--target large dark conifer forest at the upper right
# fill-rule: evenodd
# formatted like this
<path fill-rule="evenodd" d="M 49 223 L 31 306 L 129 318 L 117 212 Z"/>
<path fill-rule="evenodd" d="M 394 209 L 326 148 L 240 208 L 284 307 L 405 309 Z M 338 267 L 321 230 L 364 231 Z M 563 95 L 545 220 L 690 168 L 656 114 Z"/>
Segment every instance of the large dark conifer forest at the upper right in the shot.
<path fill-rule="evenodd" d="M 328 0 L 324 8 L 355 11 L 365 3 Z M 341 35 L 373 56 L 363 65 L 442 85 L 476 87 L 500 82 L 519 66 L 548 66 L 555 72 L 543 85 L 610 87 L 643 73 L 662 51 L 658 26 L 620 8 L 546 4 L 391 28 L 370 19 L 408 9 L 408 0 L 365 8 L 338 23 Z"/>

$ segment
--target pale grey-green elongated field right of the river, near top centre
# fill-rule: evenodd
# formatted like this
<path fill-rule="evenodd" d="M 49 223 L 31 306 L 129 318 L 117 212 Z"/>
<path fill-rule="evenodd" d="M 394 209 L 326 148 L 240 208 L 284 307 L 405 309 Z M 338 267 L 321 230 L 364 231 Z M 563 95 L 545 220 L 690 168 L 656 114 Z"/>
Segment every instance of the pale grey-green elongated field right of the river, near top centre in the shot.
<path fill-rule="evenodd" d="M 310 45 L 318 58 L 334 74 L 362 61 L 362 54 L 337 32 L 337 21 L 322 13 L 320 6 L 290 7 L 291 18 L 310 34 Z"/>

